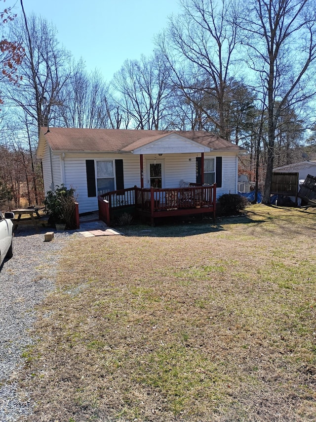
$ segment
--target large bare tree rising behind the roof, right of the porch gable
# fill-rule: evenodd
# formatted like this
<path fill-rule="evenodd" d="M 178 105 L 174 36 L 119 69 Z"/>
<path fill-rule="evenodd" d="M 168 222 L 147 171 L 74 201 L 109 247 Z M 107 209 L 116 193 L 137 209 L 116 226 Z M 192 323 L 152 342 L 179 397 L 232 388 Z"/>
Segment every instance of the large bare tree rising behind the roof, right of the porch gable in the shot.
<path fill-rule="evenodd" d="M 201 109 L 200 114 L 207 116 L 215 131 L 229 140 L 225 94 L 235 72 L 237 3 L 183 0 L 181 4 L 183 13 L 170 18 L 167 31 L 158 37 L 158 46 L 173 70 L 175 86 Z M 203 94 L 201 102 L 196 101 L 199 93 Z"/>

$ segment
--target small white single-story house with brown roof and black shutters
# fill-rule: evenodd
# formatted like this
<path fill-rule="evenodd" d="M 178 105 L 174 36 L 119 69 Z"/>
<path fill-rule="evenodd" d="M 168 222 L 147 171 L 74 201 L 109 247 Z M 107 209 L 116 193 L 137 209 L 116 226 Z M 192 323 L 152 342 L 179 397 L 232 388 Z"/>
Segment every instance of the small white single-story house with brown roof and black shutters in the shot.
<path fill-rule="evenodd" d="M 76 188 L 79 212 L 98 209 L 97 196 L 123 188 L 217 185 L 237 193 L 238 152 L 203 131 L 42 128 L 37 156 L 44 190 Z"/>

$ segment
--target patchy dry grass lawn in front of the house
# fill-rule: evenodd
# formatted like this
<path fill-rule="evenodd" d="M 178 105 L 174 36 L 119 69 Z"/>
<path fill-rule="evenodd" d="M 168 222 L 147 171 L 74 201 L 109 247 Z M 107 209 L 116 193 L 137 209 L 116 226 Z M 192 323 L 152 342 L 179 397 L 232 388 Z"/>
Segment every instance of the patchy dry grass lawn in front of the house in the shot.
<path fill-rule="evenodd" d="M 75 238 L 24 353 L 32 421 L 315 421 L 316 210 Z"/>

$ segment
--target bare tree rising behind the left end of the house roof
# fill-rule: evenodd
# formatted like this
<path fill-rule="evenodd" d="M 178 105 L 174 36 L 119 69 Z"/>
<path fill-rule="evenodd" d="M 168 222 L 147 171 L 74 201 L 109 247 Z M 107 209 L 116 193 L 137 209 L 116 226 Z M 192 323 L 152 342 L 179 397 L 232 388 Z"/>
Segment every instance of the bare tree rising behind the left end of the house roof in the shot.
<path fill-rule="evenodd" d="M 6 84 L 4 95 L 16 112 L 20 109 L 29 116 L 39 134 L 41 126 L 48 126 L 58 94 L 71 77 L 70 53 L 59 46 L 53 26 L 35 15 L 27 18 L 24 9 L 23 19 L 12 22 L 10 35 L 24 47 L 25 57 L 19 68 L 21 81 L 18 86 Z"/>

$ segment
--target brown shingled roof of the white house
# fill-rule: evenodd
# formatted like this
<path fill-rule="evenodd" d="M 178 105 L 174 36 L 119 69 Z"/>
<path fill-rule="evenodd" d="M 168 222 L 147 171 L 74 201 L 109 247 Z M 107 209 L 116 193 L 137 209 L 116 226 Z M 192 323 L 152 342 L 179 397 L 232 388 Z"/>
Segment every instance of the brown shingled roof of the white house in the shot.
<path fill-rule="evenodd" d="M 213 150 L 241 151 L 242 147 L 204 131 L 150 131 L 133 129 L 74 129 L 41 128 L 38 156 L 41 156 L 45 140 L 52 151 L 101 151 L 132 152 L 170 134 L 180 135 Z"/>

